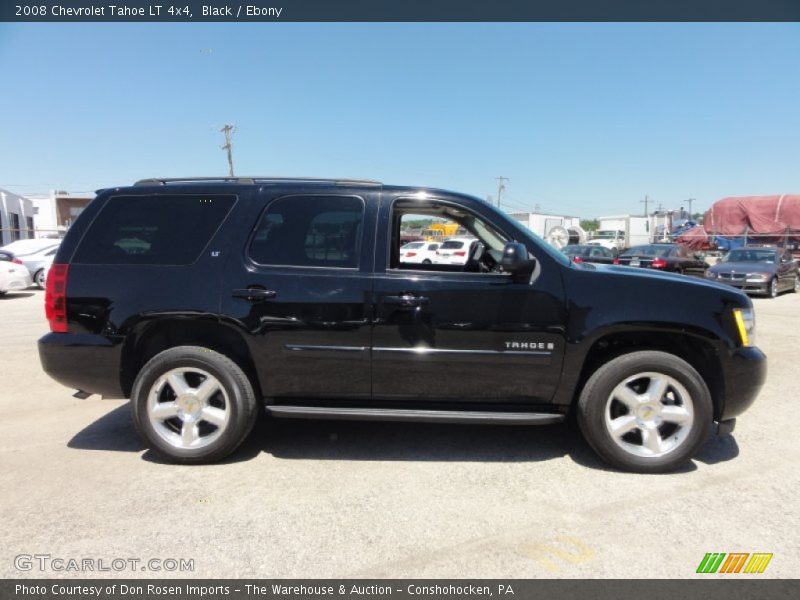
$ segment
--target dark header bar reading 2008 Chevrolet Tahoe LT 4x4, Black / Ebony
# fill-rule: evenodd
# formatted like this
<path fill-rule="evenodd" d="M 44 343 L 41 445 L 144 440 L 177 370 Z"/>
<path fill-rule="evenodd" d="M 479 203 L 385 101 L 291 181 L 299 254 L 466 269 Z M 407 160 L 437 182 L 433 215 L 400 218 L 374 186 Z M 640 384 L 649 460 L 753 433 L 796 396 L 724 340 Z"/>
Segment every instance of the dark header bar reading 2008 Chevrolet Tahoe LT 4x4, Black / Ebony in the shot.
<path fill-rule="evenodd" d="M 800 21 L 800 0 L 4 0 L 6 22 Z"/>

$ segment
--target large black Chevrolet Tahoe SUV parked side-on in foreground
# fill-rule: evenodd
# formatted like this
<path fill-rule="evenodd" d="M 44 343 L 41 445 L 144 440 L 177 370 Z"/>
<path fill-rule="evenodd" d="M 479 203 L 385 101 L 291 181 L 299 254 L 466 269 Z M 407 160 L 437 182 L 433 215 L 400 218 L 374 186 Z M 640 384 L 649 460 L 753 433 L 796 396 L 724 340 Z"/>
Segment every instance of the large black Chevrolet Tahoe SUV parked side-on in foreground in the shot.
<path fill-rule="evenodd" d="M 406 264 L 455 223 L 464 264 Z M 534 425 L 574 411 L 627 470 L 686 462 L 755 399 L 742 292 L 575 264 L 486 202 L 374 181 L 148 179 L 101 190 L 47 278 L 45 371 L 131 398 L 155 451 L 233 452 L 273 417 Z"/>

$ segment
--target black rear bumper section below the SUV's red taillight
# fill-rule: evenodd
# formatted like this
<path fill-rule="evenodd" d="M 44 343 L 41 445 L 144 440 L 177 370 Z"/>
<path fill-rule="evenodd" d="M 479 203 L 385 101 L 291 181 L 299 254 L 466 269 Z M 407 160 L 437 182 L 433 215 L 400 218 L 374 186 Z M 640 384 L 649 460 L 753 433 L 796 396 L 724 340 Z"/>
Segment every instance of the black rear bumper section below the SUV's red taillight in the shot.
<path fill-rule="evenodd" d="M 107 398 L 124 398 L 120 386 L 122 339 L 48 333 L 39 340 L 44 372 L 60 384 Z"/>

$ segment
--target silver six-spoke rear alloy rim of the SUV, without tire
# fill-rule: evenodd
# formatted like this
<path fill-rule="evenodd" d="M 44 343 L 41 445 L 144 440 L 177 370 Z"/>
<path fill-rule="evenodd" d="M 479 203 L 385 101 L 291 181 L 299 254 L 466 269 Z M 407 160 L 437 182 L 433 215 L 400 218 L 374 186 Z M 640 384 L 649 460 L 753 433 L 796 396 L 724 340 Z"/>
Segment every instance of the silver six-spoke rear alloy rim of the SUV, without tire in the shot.
<path fill-rule="evenodd" d="M 219 380 L 202 369 L 172 369 L 150 388 L 147 418 L 171 446 L 202 448 L 228 426 L 231 403 Z"/>

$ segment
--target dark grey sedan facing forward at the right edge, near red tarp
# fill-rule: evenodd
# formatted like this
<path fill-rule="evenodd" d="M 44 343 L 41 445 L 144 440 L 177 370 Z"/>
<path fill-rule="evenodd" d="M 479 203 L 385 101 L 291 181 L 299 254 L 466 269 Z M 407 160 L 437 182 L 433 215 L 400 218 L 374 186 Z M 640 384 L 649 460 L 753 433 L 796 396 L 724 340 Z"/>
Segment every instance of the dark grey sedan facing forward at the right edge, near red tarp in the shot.
<path fill-rule="evenodd" d="M 781 248 L 735 248 L 709 268 L 706 277 L 772 298 L 784 290 L 800 291 L 797 263 Z"/>

